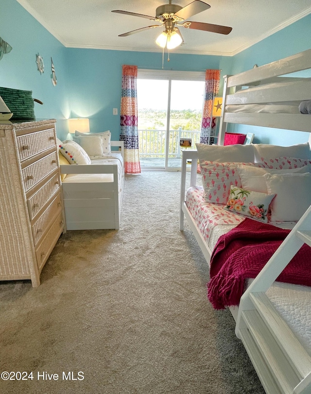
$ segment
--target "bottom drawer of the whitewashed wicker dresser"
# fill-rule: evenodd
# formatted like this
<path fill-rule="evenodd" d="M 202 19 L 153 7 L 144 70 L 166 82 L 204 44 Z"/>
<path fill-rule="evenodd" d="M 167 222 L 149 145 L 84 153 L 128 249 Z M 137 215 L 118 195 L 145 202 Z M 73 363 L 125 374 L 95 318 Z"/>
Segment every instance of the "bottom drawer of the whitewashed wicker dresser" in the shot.
<path fill-rule="evenodd" d="M 35 256 L 37 259 L 37 266 L 39 271 L 43 264 L 47 261 L 52 248 L 55 246 L 60 234 L 64 230 L 64 219 L 63 214 L 60 213 L 55 219 L 50 231 L 43 238 L 42 242 L 35 249 Z"/>

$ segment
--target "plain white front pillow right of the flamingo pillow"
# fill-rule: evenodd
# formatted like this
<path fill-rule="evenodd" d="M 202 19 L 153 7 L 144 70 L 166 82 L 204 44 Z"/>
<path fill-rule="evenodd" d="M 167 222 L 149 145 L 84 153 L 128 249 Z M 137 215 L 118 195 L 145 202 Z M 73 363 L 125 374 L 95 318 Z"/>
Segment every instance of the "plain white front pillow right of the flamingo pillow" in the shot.
<path fill-rule="evenodd" d="M 298 221 L 311 205 L 311 174 L 265 174 L 271 204 L 271 221 Z"/>

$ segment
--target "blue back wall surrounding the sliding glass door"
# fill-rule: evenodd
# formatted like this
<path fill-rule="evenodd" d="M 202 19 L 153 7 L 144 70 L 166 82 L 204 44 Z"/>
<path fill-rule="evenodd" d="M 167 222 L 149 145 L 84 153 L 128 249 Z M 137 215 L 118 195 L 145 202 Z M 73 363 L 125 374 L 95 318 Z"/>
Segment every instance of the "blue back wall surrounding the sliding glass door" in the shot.
<path fill-rule="evenodd" d="M 170 54 L 164 67 L 173 70 L 204 71 L 222 68 L 230 71 L 231 58 L 222 56 Z M 110 130 L 112 138 L 120 135 L 120 98 L 122 65 L 138 68 L 162 68 L 162 52 L 133 52 L 97 49 L 67 49 L 68 94 L 71 117 L 88 117 L 94 132 Z M 225 68 L 226 67 L 226 68 Z M 152 92 L 150 92 L 152 94 Z M 118 115 L 112 109 L 118 108 Z"/>

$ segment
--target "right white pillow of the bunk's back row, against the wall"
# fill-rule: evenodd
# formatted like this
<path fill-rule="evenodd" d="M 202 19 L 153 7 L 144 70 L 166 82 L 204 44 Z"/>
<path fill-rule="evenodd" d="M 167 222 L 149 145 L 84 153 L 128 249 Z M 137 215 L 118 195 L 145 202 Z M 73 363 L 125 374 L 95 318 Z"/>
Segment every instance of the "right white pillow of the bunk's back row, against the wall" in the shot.
<path fill-rule="evenodd" d="M 263 158 L 274 159 L 275 157 L 290 156 L 301 159 L 311 159 L 309 142 L 296 144 L 289 147 L 277 145 L 254 144 L 255 161 L 260 162 Z"/>

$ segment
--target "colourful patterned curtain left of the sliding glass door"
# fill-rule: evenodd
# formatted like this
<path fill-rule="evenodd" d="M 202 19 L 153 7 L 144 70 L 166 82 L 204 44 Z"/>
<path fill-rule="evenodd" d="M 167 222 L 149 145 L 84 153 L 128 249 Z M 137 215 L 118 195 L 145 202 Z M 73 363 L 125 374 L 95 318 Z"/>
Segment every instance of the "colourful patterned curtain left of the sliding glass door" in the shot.
<path fill-rule="evenodd" d="M 127 174 L 139 174 L 137 128 L 137 66 L 122 66 L 121 132 L 124 141 L 124 170 Z"/>

